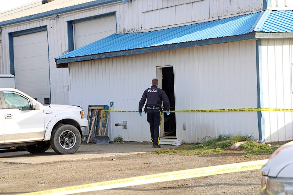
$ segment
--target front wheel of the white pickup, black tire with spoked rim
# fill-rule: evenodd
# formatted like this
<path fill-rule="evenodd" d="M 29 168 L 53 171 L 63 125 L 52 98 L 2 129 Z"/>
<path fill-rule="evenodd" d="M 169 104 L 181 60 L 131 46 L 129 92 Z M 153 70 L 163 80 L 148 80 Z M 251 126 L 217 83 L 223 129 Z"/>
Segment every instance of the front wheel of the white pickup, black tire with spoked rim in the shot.
<path fill-rule="evenodd" d="M 51 147 L 58 154 L 72 154 L 81 144 L 81 135 L 78 129 L 69 124 L 53 129 L 51 133 Z"/>

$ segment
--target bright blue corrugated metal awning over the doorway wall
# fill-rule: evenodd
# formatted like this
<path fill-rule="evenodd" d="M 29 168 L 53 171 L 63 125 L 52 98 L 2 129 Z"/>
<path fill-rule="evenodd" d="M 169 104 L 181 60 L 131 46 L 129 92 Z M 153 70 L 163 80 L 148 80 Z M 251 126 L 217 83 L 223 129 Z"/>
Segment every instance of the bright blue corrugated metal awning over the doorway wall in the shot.
<path fill-rule="evenodd" d="M 267 33 L 278 33 L 279 38 L 280 32 L 293 32 L 293 11 L 266 10 L 150 32 L 112 34 L 61 55 L 55 61 L 57 67 L 67 67 L 69 62 L 267 38 Z"/>

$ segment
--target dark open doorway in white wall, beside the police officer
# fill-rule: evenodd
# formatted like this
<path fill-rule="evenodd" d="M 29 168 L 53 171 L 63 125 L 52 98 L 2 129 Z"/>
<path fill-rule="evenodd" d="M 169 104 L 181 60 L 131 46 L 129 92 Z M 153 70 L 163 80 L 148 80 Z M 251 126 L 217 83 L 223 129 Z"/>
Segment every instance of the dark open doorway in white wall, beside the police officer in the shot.
<path fill-rule="evenodd" d="M 174 70 L 173 66 L 158 67 L 157 78 L 159 79 L 159 87 L 165 91 L 170 101 L 170 110 L 175 110 L 175 90 L 174 90 Z M 160 82 L 161 78 L 161 82 Z M 175 112 L 167 115 L 165 112 L 162 117 L 163 125 L 161 138 L 176 138 L 176 116 Z M 163 128 L 164 127 L 164 128 Z"/>

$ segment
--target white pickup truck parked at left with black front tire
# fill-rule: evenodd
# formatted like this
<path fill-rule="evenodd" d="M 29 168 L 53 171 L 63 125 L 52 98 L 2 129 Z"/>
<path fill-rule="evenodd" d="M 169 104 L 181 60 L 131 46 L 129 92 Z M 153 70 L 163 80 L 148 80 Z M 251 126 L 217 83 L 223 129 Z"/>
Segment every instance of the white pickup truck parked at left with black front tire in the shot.
<path fill-rule="evenodd" d="M 72 154 L 88 136 L 88 125 L 79 106 L 43 105 L 20 90 L 0 88 L 0 149 L 43 153 L 51 146 Z"/>

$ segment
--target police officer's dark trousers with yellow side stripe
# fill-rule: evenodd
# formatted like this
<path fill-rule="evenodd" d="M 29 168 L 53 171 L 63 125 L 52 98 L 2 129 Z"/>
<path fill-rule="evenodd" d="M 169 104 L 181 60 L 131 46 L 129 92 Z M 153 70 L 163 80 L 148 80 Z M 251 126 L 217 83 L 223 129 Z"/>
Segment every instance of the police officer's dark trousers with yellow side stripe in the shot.
<path fill-rule="evenodd" d="M 162 116 L 159 109 L 147 110 L 147 122 L 150 123 L 151 141 L 154 145 L 159 145 L 161 121 Z"/>

